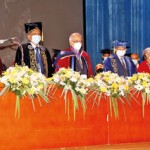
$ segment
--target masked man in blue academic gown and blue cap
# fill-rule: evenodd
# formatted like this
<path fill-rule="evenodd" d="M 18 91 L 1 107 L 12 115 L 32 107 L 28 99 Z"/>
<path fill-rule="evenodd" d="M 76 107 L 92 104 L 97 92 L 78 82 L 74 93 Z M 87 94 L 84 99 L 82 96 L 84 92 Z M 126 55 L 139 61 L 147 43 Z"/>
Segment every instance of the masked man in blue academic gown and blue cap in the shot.
<path fill-rule="evenodd" d="M 114 55 L 111 55 L 104 62 L 104 71 L 117 73 L 119 76 L 132 76 L 136 73 L 136 67 L 130 57 L 124 56 L 127 42 L 114 41 Z"/>

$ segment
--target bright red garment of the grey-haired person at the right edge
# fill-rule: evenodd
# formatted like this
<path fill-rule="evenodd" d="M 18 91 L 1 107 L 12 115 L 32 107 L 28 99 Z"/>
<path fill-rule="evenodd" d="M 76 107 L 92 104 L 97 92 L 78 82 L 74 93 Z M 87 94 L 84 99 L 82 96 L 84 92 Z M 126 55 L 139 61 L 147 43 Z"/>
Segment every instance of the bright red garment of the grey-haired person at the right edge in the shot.
<path fill-rule="evenodd" d="M 146 60 L 139 65 L 137 72 L 150 73 L 150 66 Z"/>

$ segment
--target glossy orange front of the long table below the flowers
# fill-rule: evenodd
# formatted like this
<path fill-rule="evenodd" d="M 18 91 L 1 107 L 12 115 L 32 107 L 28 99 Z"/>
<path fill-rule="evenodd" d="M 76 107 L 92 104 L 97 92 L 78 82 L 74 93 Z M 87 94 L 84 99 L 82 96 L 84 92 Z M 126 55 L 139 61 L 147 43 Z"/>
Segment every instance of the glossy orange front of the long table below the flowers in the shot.
<path fill-rule="evenodd" d="M 35 110 L 30 99 L 21 99 L 20 118 L 15 117 L 15 94 L 8 92 L 1 96 L 0 148 L 61 148 L 150 141 L 150 105 L 145 106 L 143 117 L 140 95 L 137 97 L 139 104 L 131 102 L 132 108 L 126 102 L 119 102 L 119 119 L 110 117 L 109 101 L 102 99 L 100 105 L 94 107 L 89 100 L 85 114 L 79 103 L 74 120 L 71 94 L 68 94 L 68 118 L 61 92 L 57 90 L 56 99 L 50 99 L 48 104 L 41 100 L 42 106 L 35 99 Z"/>

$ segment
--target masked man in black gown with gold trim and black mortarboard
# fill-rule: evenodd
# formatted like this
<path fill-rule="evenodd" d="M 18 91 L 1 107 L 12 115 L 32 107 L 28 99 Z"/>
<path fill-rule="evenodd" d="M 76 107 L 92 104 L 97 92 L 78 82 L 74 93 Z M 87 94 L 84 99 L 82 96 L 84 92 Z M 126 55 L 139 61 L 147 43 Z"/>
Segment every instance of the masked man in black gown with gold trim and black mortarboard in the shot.
<path fill-rule="evenodd" d="M 41 72 L 46 77 L 52 76 L 52 62 L 49 51 L 40 45 L 42 40 L 42 23 L 26 23 L 25 32 L 29 40 L 22 44 L 16 52 L 15 63 L 18 65 L 27 65 L 34 71 Z"/>

